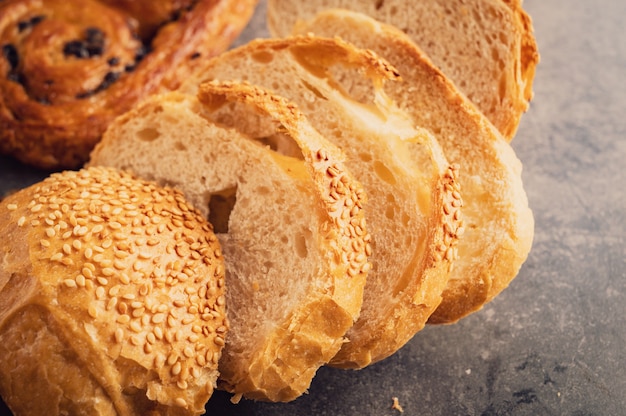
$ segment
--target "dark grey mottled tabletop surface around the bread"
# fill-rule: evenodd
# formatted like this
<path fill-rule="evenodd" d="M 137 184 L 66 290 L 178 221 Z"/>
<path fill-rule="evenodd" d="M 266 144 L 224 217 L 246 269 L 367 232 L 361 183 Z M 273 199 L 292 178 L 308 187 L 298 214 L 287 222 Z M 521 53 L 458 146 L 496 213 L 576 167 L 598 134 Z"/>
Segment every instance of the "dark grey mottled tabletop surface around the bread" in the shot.
<path fill-rule="evenodd" d="M 364 370 L 319 370 L 287 404 L 216 393 L 220 415 L 626 414 L 626 2 L 526 0 L 541 53 L 512 145 L 535 214 L 518 277 Z M 239 43 L 266 36 L 264 3 Z M 0 157 L 0 191 L 40 180 Z M 0 409 L 0 412 L 2 409 Z M 6 411 L 6 409 L 4 410 Z"/>

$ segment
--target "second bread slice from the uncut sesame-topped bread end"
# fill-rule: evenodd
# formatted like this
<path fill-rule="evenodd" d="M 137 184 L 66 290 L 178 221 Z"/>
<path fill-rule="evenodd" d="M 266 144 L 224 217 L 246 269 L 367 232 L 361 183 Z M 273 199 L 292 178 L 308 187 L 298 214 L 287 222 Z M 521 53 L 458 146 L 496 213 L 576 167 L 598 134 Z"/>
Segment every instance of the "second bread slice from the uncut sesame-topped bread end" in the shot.
<path fill-rule="evenodd" d="M 342 70 L 348 74 L 335 77 Z M 287 97 L 344 150 L 346 166 L 368 194 L 372 270 L 361 316 L 331 364 L 361 368 L 397 351 L 441 302 L 461 225 L 461 199 L 457 170 L 433 136 L 415 129 L 378 88 L 385 80 L 395 83 L 395 70 L 340 40 L 301 36 L 253 41 L 199 73 Z M 199 83 L 190 81 L 191 92 Z M 378 86 L 377 94 L 350 95 L 359 83 Z"/>

